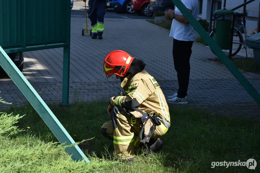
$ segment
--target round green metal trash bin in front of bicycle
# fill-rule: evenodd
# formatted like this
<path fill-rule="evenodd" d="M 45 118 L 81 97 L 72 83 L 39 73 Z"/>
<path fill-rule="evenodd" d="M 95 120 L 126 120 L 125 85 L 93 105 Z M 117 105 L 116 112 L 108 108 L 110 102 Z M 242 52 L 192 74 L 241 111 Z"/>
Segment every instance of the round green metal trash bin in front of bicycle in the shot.
<path fill-rule="evenodd" d="M 234 11 L 225 9 L 215 11 L 215 17 L 217 15 L 221 15 L 221 17 L 215 21 L 215 35 L 213 40 L 222 50 L 229 50 L 230 48 L 231 27 L 234 14 Z"/>

